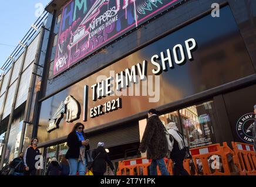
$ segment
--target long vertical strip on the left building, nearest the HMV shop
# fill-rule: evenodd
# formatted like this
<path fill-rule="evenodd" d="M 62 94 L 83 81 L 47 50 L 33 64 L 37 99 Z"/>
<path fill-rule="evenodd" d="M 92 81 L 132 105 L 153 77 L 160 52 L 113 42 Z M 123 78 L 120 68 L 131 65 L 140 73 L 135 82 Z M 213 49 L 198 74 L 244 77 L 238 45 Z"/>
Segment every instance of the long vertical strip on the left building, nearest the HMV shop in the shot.
<path fill-rule="evenodd" d="M 24 112 L 24 119 L 23 119 L 23 124 L 22 124 L 22 130 L 21 130 L 21 140 L 19 141 L 19 152 L 22 152 L 23 149 L 23 142 L 24 142 L 24 137 L 25 137 L 25 131 L 26 131 L 26 124 L 29 123 L 29 116 L 31 115 L 31 105 L 32 105 L 32 100 L 33 100 L 33 91 L 35 90 L 35 82 L 36 82 L 36 75 L 34 74 L 37 70 L 37 66 L 39 63 L 39 57 L 40 57 L 40 52 L 42 49 L 42 41 L 43 41 L 43 35 L 45 33 L 45 28 L 42 26 L 40 30 L 40 37 L 39 37 L 39 42 L 36 50 L 36 55 L 35 55 L 35 60 L 33 64 L 33 70 L 32 70 L 32 75 L 31 75 L 31 81 L 29 83 L 29 89 L 28 89 L 28 98 L 26 99 L 26 106 L 25 106 L 25 112 Z"/>

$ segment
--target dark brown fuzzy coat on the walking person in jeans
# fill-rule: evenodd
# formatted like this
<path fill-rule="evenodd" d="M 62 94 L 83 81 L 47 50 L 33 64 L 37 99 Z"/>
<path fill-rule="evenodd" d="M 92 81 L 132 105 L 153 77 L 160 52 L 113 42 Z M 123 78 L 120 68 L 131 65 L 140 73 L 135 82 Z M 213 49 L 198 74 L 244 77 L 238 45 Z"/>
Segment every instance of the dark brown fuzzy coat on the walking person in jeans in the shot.
<path fill-rule="evenodd" d="M 164 130 L 159 116 L 149 117 L 139 148 L 143 153 L 147 150 L 147 159 L 157 160 L 166 157 L 168 144 Z"/>

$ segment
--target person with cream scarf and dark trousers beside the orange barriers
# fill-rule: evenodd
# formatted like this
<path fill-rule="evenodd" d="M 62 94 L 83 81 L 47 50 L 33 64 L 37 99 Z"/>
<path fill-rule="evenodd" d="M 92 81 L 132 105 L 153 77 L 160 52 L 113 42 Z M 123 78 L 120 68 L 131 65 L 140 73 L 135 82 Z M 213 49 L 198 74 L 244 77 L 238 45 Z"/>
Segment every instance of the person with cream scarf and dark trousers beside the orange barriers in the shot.
<path fill-rule="evenodd" d="M 189 175 L 183 167 L 183 161 L 188 150 L 187 140 L 184 138 L 183 134 L 178 131 L 176 123 L 168 123 L 166 129 L 170 134 L 171 144 L 173 144 L 173 149 L 170 153 L 170 158 L 174 162 L 173 175 Z"/>

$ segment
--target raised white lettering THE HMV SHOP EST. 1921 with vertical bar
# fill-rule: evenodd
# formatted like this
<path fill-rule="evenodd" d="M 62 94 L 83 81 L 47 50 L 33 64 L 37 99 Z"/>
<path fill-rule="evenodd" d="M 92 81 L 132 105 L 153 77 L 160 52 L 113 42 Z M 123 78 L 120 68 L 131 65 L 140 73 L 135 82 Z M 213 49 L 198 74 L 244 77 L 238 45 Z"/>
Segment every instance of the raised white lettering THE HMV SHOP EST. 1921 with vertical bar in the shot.
<path fill-rule="evenodd" d="M 150 62 L 154 68 L 150 71 L 155 76 L 160 75 L 161 72 L 168 71 L 168 68 L 174 68 L 174 63 L 177 65 L 183 65 L 185 62 L 185 56 L 188 57 L 188 60 L 193 60 L 192 51 L 196 49 L 196 47 L 196 40 L 191 38 L 184 41 L 183 44 L 176 44 L 172 49 L 166 49 L 166 51 L 161 51 L 160 54 L 154 54 L 150 57 Z M 174 61 L 172 59 L 174 59 Z M 169 64 L 168 68 L 166 64 Z M 126 89 L 139 81 L 145 81 L 148 74 L 147 67 L 149 66 L 145 59 L 142 64 L 137 63 L 131 68 L 126 68 L 123 71 L 117 72 L 114 77 L 110 76 L 96 84 L 93 84 L 90 86 L 92 89 L 92 100 L 96 102 L 97 100 L 102 99 L 102 97 L 105 98 L 107 96 L 113 96 L 115 90 L 119 91 L 120 89 Z M 87 87 L 88 85 L 85 86 L 84 99 L 88 94 Z M 87 101 L 84 101 L 84 103 L 87 103 Z M 90 117 L 93 118 L 101 116 L 107 112 L 112 112 L 113 110 L 120 108 L 122 108 L 122 98 L 113 99 L 91 108 L 89 110 Z M 87 105 L 84 105 L 84 111 L 87 111 Z M 85 112 L 84 115 L 87 115 L 87 112 Z M 87 116 L 83 116 L 83 119 L 85 122 Z"/>

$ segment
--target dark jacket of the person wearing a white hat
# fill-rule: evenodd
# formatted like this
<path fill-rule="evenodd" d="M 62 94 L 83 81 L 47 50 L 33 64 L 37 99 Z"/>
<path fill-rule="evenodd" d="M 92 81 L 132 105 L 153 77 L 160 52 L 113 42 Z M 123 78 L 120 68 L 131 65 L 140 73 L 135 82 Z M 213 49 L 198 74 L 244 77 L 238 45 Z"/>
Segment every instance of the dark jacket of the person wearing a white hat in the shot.
<path fill-rule="evenodd" d="M 96 158 L 96 156 L 97 156 L 97 158 Z M 107 162 L 107 164 L 109 164 L 109 166 L 112 170 L 114 169 L 114 166 L 113 166 L 112 162 L 110 161 L 109 155 L 107 155 L 107 152 L 105 151 L 104 147 L 97 147 L 95 150 L 93 150 L 92 158 L 93 158 L 93 165 L 92 165 L 93 171 L 99 172 L 99 173 L 105 173 L 106 172 L 106 162 Z"/>

